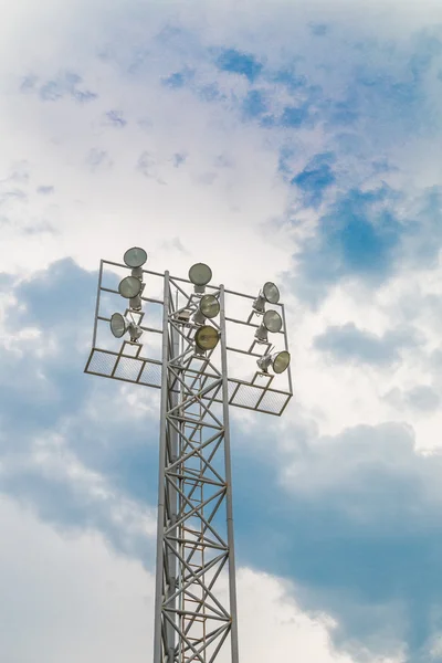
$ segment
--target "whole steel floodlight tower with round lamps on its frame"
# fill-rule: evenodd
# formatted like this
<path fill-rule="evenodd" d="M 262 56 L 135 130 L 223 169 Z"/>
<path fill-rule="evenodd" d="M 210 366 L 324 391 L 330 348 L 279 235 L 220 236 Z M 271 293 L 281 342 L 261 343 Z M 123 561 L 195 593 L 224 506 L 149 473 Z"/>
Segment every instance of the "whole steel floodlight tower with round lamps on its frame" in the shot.
<path fill-rule="evenodd" d="M 185 280 L 146 270 L 146 261 L 133 248 L 124 264 L 101 262 L 85 372 L 161 391 L 154 663 L 215 663 L 229 639 L 239 663 L 229 406 L 281 415 L 292 398 L 284 306 L 271 282 L 253 297 L 211 285 L 204 263 Z M 110 314 L 118 297 L 126 311 Z M 227 316 L 227 299 L 242 317 Z M 282 349 L 273 352 L 269 334 Z"/>

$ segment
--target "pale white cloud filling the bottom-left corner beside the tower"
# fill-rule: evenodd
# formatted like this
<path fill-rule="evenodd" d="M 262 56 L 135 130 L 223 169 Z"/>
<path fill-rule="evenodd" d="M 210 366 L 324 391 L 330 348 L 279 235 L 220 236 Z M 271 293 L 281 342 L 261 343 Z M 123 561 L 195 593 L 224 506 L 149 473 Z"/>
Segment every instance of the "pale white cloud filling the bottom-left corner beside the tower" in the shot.
<path fill-rule="evenodd" d="M 91 533 L 66 537 L 0 498 L 0 656 L 30 663 L 146 660 L 154 579 Z"/>

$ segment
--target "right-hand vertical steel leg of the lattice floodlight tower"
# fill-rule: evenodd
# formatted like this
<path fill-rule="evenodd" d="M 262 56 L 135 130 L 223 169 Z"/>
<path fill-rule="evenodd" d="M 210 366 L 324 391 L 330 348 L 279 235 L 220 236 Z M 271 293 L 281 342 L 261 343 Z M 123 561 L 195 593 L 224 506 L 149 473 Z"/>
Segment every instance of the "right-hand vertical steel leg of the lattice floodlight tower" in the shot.
<path fill-rule="evenodd" d="M 235 579 L 235 558 L 234 558 L 234 532 L 233 532 L 233 504 L 232 504 L 232 464 L 230 451 L 230 423 L 229 423 L 229 383 L 228 383 L 228 350 L 227 350 L 227 329 L 225 329 L 225 296 L 224 286 L 220 286 L 220 332 L 221 332 L 221 375 L 222 375 L 222 412 L 224 425 L 224 465 L 227 483 L 227 527 L 229 545 L 229 593 L 230 593 L 230 613 L 232 618 L 231 625 L 231 651 L 232 663 L 239 663 L 238 646 L 238 609 L 236 609 L 236 579 Z"/>

